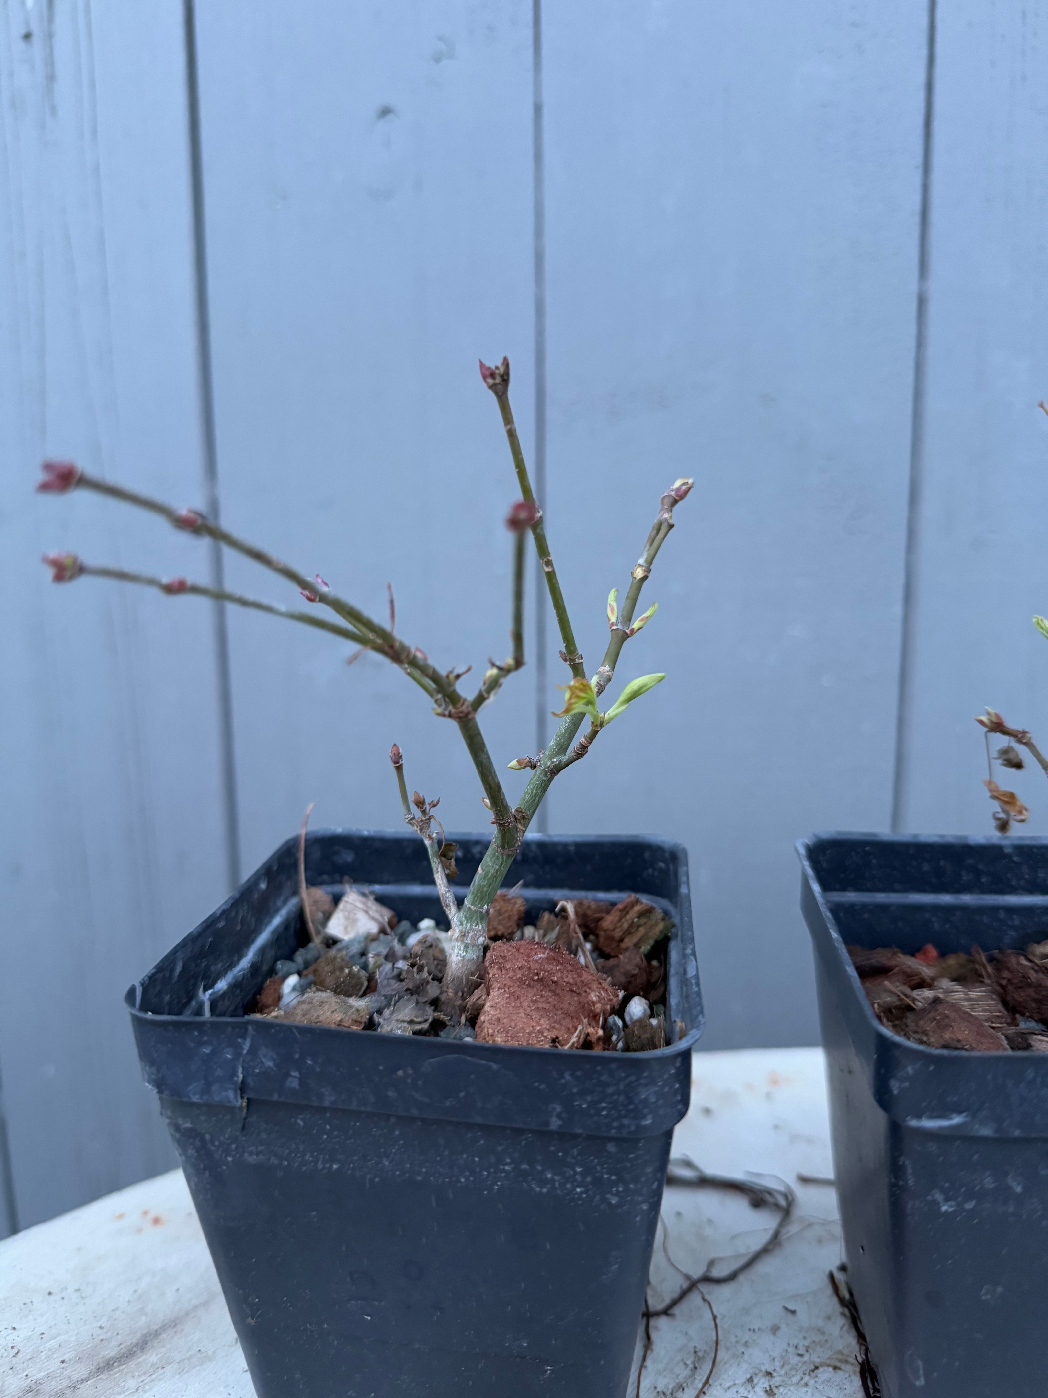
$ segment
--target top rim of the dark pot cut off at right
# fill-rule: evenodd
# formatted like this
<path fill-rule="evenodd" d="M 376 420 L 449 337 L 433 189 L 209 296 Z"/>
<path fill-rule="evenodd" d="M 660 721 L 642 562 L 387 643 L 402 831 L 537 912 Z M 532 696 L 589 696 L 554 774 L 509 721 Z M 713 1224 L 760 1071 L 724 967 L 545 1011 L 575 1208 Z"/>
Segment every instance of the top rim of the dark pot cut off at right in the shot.
<path fill-rule="evenodd" d="M 833 946 L 837 958 L 843 963 L 844 973 L 848 986 L 852 991 L 854 998 L 859 1004 L 861 1014 L 873 1030 L 878 1043 L 882 1047 L 887 1047 L 894 1053 L 905 1053 L 907 1055 L 914 1055 L 919 1062 L 924 1060 L 928 1064 L 933 1062 L 950 1062 L 954 1065 L 961 1065 L 966 1060 L 970 1060 L 970 1067 L 974 1069 L 975 1065 L 985 1071 L 987 1065 L 994 1064 L 994 1071 L 1000 1072 L 1048 1072 L 1048 1054 L 1002 1054 L 991 1053 L 989 1050 L 974 1048 L 974 1050 L 960 1050 L 960 1048 L 932 1048 L 928 1044 L 914 1043 L 911 1039 L 901 1039 L 898 1035 L 893 1035 L 886 1029 L 878 1016 L 873 1014 L 873 1007 L 866 998 L 866 993 L 862 988 L 862 980 L 855 970 L 851 956 L 848 955 L 848 948 L 844 938 L 837 927 L 837 918 L 833 914 L 833 909 L 826 900 L 826 893 L 815 871 L 812 863 L 812 851 L 815 846 L 823 840 L 845 840 L 845 842 L 868 842 L 873 840 L 880 844 L 981 844 L 981 846 L 1009 846 L 1009 844 L 1040 844 L 1048 849 L 1048 837 L 1038 835 L 1023 835 L 1014 839 L 1003 840 L 1000 836 L 994 835 L 896 835 L 896 833 L 880 833 L 868 830 L 816 830 L 805 839 L 796 840 L 795 849 L 801 867 L 805 872 L 808 884 L 815 896 L 819 911 L 826 923 L 826 931 L 829 932 L 830 945 Z M 959 893 L 957 898 L 964 898 L 966 895 Z M 816 931 L 809 924 L 809 934 L 812 939 L 816 939 Z M 1042 1061 L 1041 1061 L 1042 1060 Z M 1012 1064 L 1012 1068 L 1006 1068 L 1005 1064 Z M 1037 1067 L 1034 1064 L 1038 1064 Z"/>

